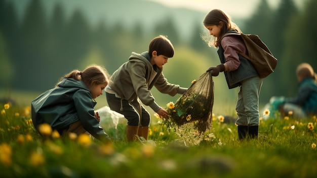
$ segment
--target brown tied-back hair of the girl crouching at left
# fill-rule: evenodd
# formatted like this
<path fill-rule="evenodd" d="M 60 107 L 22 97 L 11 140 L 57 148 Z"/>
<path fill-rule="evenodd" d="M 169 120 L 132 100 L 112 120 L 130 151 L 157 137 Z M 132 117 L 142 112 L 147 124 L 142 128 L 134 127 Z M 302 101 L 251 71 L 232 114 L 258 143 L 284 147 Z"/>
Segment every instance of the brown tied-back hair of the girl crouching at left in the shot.
<path fill-rule="evenodd" d="M 109 83 L 109 74 L 107 70 L 100 65 L 90 65 L 83 72 L 74 69 L 64 77 L 73 78 L 75 80 L 82 80 L 88 87 Z M 59 82 L 64 78 L 62 77 Z"/>

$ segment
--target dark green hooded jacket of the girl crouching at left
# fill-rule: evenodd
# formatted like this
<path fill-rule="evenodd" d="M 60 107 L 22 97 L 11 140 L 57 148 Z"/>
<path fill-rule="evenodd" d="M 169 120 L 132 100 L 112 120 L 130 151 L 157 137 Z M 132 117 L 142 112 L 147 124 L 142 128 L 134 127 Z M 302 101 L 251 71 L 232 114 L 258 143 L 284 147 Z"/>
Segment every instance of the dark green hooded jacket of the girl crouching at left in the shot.
<path fill-rule="evenodd" d="M 32 121 L 36 129 L 38 125 L 48 123 L 60 134 L 71 123 L 81 121 L 90 134 L 106 142 L 109 137 L 95 118 L 95 104 L 84 82 L 64 78 L 57 87 L 45 91 L 31 102 Z"/>

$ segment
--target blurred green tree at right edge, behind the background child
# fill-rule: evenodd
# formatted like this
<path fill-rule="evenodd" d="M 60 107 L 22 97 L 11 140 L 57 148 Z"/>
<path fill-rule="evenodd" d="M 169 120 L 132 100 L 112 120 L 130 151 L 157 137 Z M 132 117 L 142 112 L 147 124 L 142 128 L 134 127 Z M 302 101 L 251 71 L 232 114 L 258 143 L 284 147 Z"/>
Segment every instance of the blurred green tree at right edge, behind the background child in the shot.
<path fill-rule="evenodd" d="M 316 73 L 317 36 L 313 34 L 317 28 L 317 1 L 308 0 L 303 11 L 293 18 L 285 30 L 285 50 L 283 60 L 282 85 L 287 86 L 287 94 L 294 96 L 297 93 L 298 83 L 295 70 L 302 62 L 309 63 Z"/>

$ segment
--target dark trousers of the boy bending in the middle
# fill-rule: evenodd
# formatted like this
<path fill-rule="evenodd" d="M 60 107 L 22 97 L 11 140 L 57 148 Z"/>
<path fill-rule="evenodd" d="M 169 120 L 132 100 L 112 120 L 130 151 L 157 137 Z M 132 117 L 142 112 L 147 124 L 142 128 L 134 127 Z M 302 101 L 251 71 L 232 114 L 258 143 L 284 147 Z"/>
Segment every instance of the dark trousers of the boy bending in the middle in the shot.
<path fill-rule="evenodd" d="M 121 99 L 115 97 L 114 94 L 110 94 L 106 92 L 107 102 L 109 108 L 112 111 L 120 113 L 125 116 L 128 120 L 128 125 L 130 126 L 149 126 L 150 123 L 150 114 L 143 108 L 141 105 L 141 120 L 140 114 L 134 108 L 132 104 L 128 102 L 126 99 Z M 121 108 L 123 110 L 121 110 Z"/>

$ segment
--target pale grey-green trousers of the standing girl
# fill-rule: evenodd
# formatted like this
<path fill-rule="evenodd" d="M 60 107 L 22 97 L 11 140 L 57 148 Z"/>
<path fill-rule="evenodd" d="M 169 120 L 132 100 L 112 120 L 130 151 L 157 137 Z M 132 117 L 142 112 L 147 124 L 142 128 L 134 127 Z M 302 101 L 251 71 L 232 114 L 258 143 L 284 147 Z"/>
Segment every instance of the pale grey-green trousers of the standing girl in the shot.
<path fill-rule="evenodd" d="M 252 77 L 242 81 L 235 110 L 238 119 L 235 121 L 239 126 L 259 125 L 259 95 L 263 79 Z"/>

